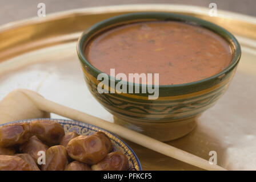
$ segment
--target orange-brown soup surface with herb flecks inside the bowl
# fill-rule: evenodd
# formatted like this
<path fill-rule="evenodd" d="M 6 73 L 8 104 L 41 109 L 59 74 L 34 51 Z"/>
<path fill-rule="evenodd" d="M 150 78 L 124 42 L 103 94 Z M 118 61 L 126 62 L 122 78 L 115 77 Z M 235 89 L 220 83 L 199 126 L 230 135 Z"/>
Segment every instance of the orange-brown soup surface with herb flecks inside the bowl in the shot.
<path fill-rule="evenodd" d="M 229 44 L 199 26 L 181 22 L 131 23 L 94 36 L 86 59 L 100 71 L 159 73 L 159 85 L 184 84 L 213 76 L 231 62 Z M 143 83 L 145 84 L 145 83 Z"/>

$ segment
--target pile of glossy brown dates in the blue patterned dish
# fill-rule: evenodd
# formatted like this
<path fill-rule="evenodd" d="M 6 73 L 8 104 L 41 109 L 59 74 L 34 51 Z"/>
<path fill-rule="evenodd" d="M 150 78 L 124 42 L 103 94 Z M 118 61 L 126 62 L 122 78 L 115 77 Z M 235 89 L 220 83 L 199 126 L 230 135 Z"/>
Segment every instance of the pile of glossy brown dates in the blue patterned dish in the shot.
<path fill-rule="evenodd" d="M 50 120 L 0 127 L 0 171 L 124 171 L 127 157 L 107 135 L 66 133 Z"/>

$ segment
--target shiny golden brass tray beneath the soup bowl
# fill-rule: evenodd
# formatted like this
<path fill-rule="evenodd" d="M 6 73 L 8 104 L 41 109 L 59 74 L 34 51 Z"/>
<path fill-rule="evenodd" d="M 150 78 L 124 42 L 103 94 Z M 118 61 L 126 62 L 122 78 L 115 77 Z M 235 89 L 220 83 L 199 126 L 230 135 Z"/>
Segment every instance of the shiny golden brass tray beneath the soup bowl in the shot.
<path fill-rule="evenodd" d="M 219 166 L 230 170 L 256 169 L 256 18 L 180 5 L 126 5 L 65 11 L 0 27 L 0 100 L 13 89 L 35 90 L 49 100 L 113 122 L 91 96 L 83 80 L 76 41 L 83 30 L 111 16 L 138 11 L 189 14 L 231 31 L 242 45 L 242 59 L 229 89 L 203 113 L 197 128 L 169 142 L 209 159 L 216 151 Z M 52 118 L 62 118 L 51 115 Z M 22 119 L 22 118 L 21 118 Z M 143 170 L 198 170 L 137 144 L 127 142 Z"/>

